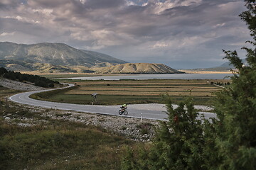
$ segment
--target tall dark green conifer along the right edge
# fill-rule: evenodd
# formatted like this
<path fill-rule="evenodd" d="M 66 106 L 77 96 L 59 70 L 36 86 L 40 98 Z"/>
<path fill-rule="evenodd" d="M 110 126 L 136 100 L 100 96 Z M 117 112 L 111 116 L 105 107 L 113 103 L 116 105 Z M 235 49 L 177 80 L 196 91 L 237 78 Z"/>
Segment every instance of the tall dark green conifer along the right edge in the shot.
<path fill-rule="evenodd" d="M 232 84 L 221 91 L 215 100 L 219 118 L 219 169 L 256 169 L 256 3 L 245 0 L 247 11 L 240 14 L 250 29 L 252 48 L 247 51 L 247 65 L 236 51 L 224 51 L 235 66 Z"/>

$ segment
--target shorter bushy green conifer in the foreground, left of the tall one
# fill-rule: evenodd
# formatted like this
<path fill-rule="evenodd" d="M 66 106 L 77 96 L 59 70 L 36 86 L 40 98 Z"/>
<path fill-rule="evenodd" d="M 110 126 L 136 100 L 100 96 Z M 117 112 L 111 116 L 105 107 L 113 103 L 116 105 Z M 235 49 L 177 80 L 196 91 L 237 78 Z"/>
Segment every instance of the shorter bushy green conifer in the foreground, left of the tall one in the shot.
<path fill-rule="evenodd" d="M 123 169 L 205 169 L 203 168 L 203 126 L 193 107 L 192 98 L 173 108 L 171 98 L 165 96 L 168 121 L 161 122 L 154 145 L 143 149 L 139 159 L 129 151 Z"/>

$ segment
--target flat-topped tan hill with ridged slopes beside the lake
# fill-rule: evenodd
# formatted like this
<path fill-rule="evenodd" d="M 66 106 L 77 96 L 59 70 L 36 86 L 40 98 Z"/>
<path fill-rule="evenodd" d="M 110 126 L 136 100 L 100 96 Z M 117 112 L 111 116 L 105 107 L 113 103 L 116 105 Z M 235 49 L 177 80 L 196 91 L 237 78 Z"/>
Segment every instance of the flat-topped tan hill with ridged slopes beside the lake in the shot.
<path fill-rule="evenodd" d="M 182 73 L 176 69 L 172 69 L 164 64 L 150 64 L 150 63 L 127 63 L 119 64 L 111 67 L 95 68 L 97 73 L 137 73 L 137 74 L 171 74 L 171 73 Z"/>

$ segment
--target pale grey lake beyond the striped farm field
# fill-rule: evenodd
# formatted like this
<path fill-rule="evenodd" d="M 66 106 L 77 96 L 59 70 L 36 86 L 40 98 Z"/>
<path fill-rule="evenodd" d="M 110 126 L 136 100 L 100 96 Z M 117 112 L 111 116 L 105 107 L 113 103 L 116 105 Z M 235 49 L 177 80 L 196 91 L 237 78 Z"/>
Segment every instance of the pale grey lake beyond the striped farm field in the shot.
<path fill-rule="evenodd" d="M 233 74 L 124 74 L 118 76 L 74 77 L 81 80 L 120 80 L 120 79 L 230 79 Z"/>

